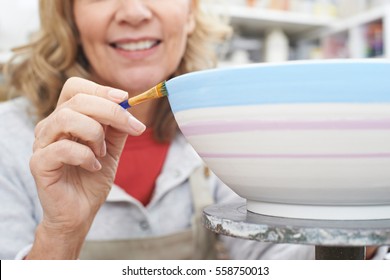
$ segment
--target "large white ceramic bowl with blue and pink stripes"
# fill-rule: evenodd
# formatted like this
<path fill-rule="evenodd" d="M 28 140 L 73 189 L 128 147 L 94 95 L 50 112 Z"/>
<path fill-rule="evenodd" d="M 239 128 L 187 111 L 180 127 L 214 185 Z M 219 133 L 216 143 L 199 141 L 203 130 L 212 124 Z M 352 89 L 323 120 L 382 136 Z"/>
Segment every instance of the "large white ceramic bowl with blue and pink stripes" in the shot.
<path fill-rule="evenodd" d="M 301 61 L 167 83 L 179 127 L 249 211 L 390 218 L 390 62 Z"/>

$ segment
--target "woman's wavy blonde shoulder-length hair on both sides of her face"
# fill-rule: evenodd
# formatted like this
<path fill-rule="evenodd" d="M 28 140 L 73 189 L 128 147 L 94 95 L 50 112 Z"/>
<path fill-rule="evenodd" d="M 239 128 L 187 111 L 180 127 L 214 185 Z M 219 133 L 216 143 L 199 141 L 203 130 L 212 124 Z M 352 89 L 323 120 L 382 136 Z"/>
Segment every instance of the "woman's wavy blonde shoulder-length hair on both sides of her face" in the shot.
<path fill-rule="evenodd" d="M 206 14 L 199 0 L 193 1 L 196 27 L 175 76 L 215 67 L 215 44 L 230 34 L 218 17 Z M 35 106 L 38 120 L 54 109 L 65 81 L 89 78 L 88 61 L 78 43 L 72 0 L 40 0 L 41 29 L 32 43 L 15 50 L 6 67 L 10 96 L 24 95 Z M 159 100 L 154 116 L 155 138 L 169 141 L 177 125 L 166 98 Z"/>

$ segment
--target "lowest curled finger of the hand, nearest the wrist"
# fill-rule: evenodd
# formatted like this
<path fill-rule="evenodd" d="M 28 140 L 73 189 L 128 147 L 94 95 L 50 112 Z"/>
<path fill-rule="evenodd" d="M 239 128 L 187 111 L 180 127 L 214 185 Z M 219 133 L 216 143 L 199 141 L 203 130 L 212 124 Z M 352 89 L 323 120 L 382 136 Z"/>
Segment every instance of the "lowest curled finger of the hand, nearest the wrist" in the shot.
<path fill-rule="evenodd" d="M 38 149 L 30 160 L 31 173 L 36 177 L 53 176 L 65 165 L 80 166 L 90 172 L 96 172 L 102 168 L 92 150 L 85 145 L 63 139 L 51 145 Z"/>

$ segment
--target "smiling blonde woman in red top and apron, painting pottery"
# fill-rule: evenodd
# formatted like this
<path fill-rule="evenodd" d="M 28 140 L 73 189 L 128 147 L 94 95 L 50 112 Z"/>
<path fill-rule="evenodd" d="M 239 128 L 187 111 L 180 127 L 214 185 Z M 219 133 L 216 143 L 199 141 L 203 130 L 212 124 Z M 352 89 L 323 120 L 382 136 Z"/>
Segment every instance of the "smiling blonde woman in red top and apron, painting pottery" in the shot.
<path fill-rule="evenodd" d="M 196 0 L 40 7 L 40 34 L 9 69 L 8 91 L 24 98 L 0 108 L 0 257 L 214 258 L 202 208 L 239 198 L 204 172 L 167 99 L 129 112 L 117 103 L 213 67 L 213 44 L 229 29 Z M 232 258 L 313 256 L 311 247 L 224 241 Z"/>

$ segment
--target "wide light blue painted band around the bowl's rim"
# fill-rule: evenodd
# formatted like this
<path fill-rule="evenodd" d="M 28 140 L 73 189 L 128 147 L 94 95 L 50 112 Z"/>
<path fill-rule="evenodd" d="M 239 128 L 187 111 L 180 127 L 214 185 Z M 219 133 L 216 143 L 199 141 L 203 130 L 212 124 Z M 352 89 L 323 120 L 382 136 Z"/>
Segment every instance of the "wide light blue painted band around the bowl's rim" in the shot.
<path fill-rule="evenodd" d="M 388 103 L 390 62 L 335 60 L 252 64 L 185 74 L 167 82 L 174 112 L 288 103 Z"/>

